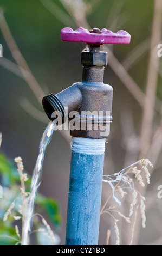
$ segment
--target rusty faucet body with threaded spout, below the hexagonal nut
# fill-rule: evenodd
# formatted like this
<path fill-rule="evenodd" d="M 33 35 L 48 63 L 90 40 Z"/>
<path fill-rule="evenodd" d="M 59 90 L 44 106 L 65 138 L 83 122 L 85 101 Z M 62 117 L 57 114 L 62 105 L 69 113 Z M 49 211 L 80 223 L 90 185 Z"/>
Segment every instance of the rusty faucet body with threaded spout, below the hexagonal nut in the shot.
<path fill-rule="evenodd" d="M 106 127 L 112 121 L 113 88 L 103 83 L 103 74 L 103 67 L 84 67 L 82 82 L 74 83 L 59 94 L 45 96 L 43 107 L 48 117 L 50 118 L 52 112 L 57 110 L 61 111 L 63 121 L 65 121 L 67 117 L 64 116 L 63 108 L 68 107 L 68 117 L 72 111 L 79 113 L 78 116 L 75 116 L 75 121 L 76 127 L 79 125 L 80 130 L 70 130 L 70 135 L 74 137 L 107 138 L 108 134 L 101 136 L 100 124 L 102 123 Z M 92 117 L 86 115 L 85 118 L 82 116 L 82 112 L 91 112 L 95 115 L 92 115 Z M 109 112 L 108 115 L 107 112 Z M 87 129 L 88 118 L 92 121 L 92 130 Z M 73 118 L 69 117 L 68 119 L 70 121 Z M 82 130 L 82 120 L 87 123 L 86 130 Z"/>

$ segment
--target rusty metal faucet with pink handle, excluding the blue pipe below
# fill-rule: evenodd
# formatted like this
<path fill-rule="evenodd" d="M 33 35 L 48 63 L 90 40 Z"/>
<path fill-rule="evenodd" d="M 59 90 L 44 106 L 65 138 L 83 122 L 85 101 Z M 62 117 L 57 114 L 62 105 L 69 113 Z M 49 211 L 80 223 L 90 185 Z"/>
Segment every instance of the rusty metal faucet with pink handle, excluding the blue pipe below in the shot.
<path fill-rule="evenodd" d="M 101 135 L 101 123 L 108 125 L 112 122 L 113 88 L 103 83 L 105 66 L 107 65 L 107 52 L 100 51 L 102 44 L 128 44 L 130 35 L 125 31 L 113 33 L 107 29 L 94 28 L 90 31 L 79 28 L 73 31 L 64 28 L 61 31 L 62 41 L 85 42 L 86 49 L 81 54 L 83 65 L 82 81 L 74 83 L 69 88 L 56 95 L 49 94 L 43 97 L 43 107 L 50 120 L 54 111 L 59 111 L 62 121 L 69 120 L 69 113 L 77 112 L 75 120 L 80 123 L 79 130 L 70 129 L 70 135 L 74 137 L 107 138 L 108 134 Z M 64 108 L 68 107 L 68 113 Z M 92 115 L 83 116 L 84 112 L 94 112 Z M 68 117 L 67 117 L 68 114 Z M 99 119 L 100 117 L 100 119 Z M 82 130 L 81 121 L 88 123 L 92 120 L 92 130 Z M 100 125 L 99 125 L 100 124 Z M 108 130 L 108 129 L 107 129 Z"/>

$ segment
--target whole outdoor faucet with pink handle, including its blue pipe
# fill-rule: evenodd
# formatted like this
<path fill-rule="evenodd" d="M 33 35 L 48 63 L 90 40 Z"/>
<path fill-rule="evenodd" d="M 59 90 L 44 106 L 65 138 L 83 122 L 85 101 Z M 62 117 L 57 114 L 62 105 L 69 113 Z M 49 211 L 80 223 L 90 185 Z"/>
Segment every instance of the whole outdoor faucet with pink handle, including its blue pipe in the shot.
<path fill-rule="evenodd" d="M 103 83 L 107 52 L 100 51 L 100 45 L 129 44 L 131 36 L 105 28 L 64 28 L 61 40 L 86 44 L 81 53 L 82 81 L 43 97 L 49 119 L 54 120 L 56 112 L 61 123 L 68 119 L 72 136 L 66 245 L 97 245 L 105 141 L 112 122 L 113 100 L 113 88 Z M 74 116 L 75 126 L 71 122 Z"/>

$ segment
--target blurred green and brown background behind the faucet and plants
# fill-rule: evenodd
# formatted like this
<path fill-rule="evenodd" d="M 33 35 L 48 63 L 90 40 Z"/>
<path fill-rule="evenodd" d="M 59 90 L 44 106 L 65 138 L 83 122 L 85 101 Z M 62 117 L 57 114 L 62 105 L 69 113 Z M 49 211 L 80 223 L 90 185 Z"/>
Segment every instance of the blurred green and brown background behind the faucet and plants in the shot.
<path fill-rule="evenodd" d="M 153 163 L 151 184 L 137 187 L 146 197 L 146 228 L 141 227 L 139 217 L 133 243 L 162 244 L 162 199 L 157 197 L 162 185 L 161 0 L 0 0 L 0 8 L 1 150 L 11 160 L 21 156 L 30 175 L 49 121 L 42 97 L 59 93 L 82 78 L 83 46 L 62 42 L 61 29 L 97 27 L 131 34 L 130 45 L 103 47 L 108 52 L 104 82 L 114 89 L 104 173 L 119 172 L 142 158 Z M 46 151 L 39 191 L 59 202 L 62 224 L 55 231 L 61 245 L 66 233 L 69 170 L 70 137 L 56 131 Z M 102 204 L 109 191 L 103 184 Z M 126 211 L 125 202 L 121 207 Z M 106 245 L 108 229 L 109 244 L 114 245 L 113 220 L 101 215 L 99 245 Z M 120 221 L 121 244 L 129 244 L 131 230 Z"/>

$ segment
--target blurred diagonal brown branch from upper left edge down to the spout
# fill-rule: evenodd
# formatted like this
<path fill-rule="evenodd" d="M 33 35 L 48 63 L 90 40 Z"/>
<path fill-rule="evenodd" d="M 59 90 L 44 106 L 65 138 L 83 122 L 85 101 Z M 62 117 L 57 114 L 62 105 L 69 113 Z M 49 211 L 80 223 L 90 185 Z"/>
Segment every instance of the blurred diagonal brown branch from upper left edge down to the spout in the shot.
<path fill-rule="evenodd" d="M 35 77 L 33 76 L 31 70 L 29 69 L 27 62 L 25 61 L 20 50 L 18 49 L 16 42 L 15 42 L 15 40 L 10 32 L 10 29 L 8 27 L 8 24 L 5 21 L 2 8 L 0 8 L 0 29 L 2 31 L 2 34 L 4 36 L 4 39 L 5 39 L 8 47 L 9 47 L 12 57 L 15 59 L 15 62 L 17 63 L 18 67 L 20 68 L 25 81 L 28 83 L 30 89 L 35 94 L 37 100 L 41 103 L 42 97 L 44 96 L 44 92 L 43 92 L 42 88 L 40 87 L 40 85 L 37 83 Z"/>

